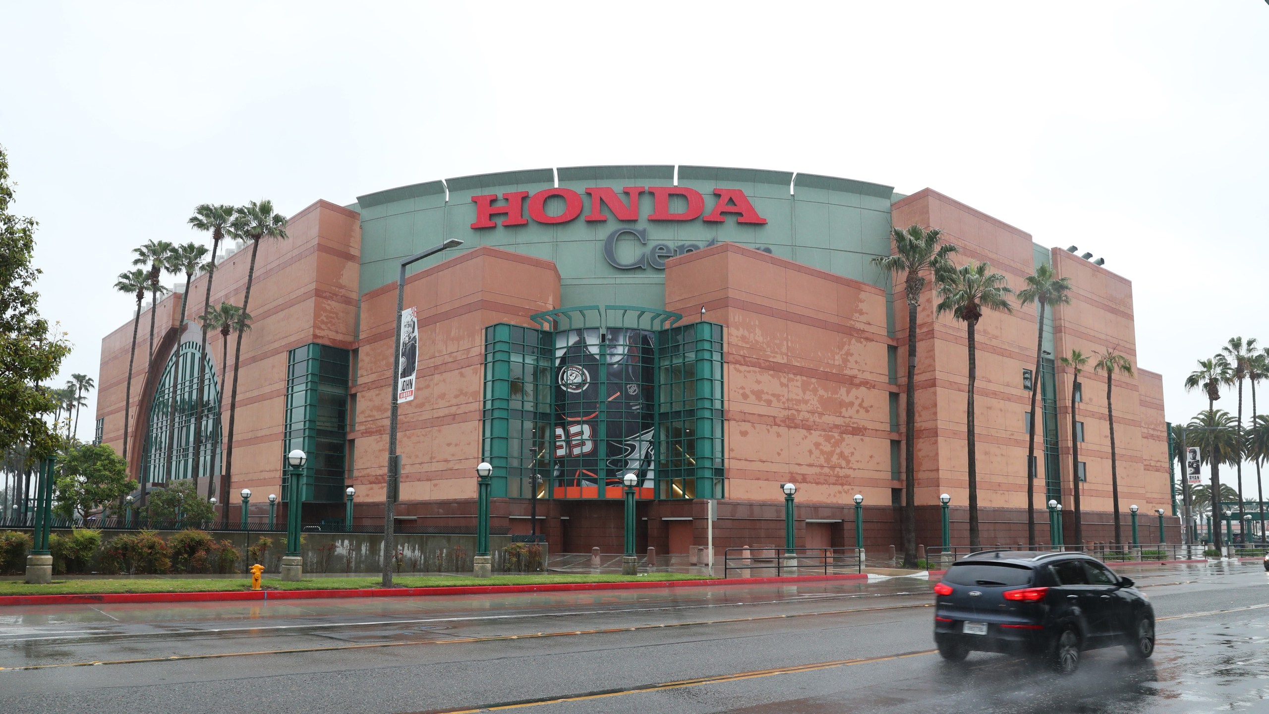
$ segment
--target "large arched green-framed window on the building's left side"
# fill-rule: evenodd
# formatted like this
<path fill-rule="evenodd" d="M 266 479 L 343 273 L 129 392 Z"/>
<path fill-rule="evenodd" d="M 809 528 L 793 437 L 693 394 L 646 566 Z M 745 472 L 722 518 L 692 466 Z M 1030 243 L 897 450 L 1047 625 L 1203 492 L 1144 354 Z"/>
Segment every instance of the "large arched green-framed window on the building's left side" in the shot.
<path fill-rule="evenodd" d="M 168 483 L 193 476 L 194 469 L 194 410 L 198 404 L 198 357 L 202 347 L 195 340 L 183 342 L 159 377 L 159 386 L 150 403 L 145 448 L 141 451 L 141 478 L 150 483 Z M 199 476 L 218 474 L 221 470 L 221 390 L 216 380 L 216 365 L 211 356 L 203 356 L 207 381 L 203 391 L 203 429 L 199 448 L 203 451 Z M 175 428 L 169 428 L 169 413 L 175 395 Z M 100 441 L 103 422 L 98 421 L 95 438 Z M 168 440 L 171 436 L 171 473 L 168 473 Z"/>

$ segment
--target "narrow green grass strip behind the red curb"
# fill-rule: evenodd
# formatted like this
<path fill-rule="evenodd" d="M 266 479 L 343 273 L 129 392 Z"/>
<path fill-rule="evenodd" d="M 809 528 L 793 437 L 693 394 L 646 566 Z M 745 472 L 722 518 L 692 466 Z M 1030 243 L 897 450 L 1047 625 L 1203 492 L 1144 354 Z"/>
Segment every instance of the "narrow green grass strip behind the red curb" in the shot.
<path fill-rule="evenodd" d="M 519 586 L 555 583 L 626 583 L 662 581 L 702 581 L 704 576 L 683 573 L 648 573 L 645 576 L 494 576 L 472 578 L 463 576 L 400 577 L 393 583 L 401 587 L 466 587 L 466 586 Z M 379 578 L 313 578 L 284 583 L 277 578 L 264 578 L 266 589 L 360 589 L 379 587 Z M 0 581 L 4 595 L 103 595 L 115 592 L 240 592 L 251 589 L 249 578 L 225 579 L 121 579 L 121 581 L 55 581 L 49 584 L 27 584 L 22 581 Z"/>

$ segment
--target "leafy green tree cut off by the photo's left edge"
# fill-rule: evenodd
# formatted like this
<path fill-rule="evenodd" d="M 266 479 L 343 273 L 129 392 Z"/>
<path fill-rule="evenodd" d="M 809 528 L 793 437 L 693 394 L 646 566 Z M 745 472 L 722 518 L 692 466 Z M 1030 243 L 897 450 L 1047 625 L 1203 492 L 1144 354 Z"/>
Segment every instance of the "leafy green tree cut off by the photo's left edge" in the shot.
<path fill-rule="evenodd" d="M 39 316 L 41 271 L 32 266 L 38 224 L 11 213 L 13 201 L 9 156 L 0 147 L 0 451 L 22 443 L 38 459 L 62 442 L 47 421 L 57 403 L 41 384 L 57 375 L 70 344 Z"/>

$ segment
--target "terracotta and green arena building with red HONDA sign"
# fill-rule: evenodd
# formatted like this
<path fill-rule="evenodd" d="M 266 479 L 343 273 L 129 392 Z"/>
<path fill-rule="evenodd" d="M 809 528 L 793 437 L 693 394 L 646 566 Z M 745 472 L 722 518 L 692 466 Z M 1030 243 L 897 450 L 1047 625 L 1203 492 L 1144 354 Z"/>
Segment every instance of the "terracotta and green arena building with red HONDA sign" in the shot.
<path fill-rule="evenodd" d="M 254 509 L 265 507 L 264 494 L 283 493 L 284 455 L 301 447 L 311 455 L 306 522 L 341 522 L 348 485 L 354 525 L 382 522 L 391 394 L 401 387 L 401 531 L 472 531 L 475 466 L 487 460 L 494 532 L 537 530 L 555 553 L 621 550 L 628 473 L 640 479 L 641 550 L 703 545 L 708 499 L 717 499 L 717 548 L 782 542 L 786 482 L 798 487 L 799 546 L 854 545 L 857 493 L 865 544 L 898 544 L 907 310 L 902 286 L 873 259 L 890 254 L 891 226 L 911 224 L 942 229 L 959 246 L 957 263 L 989 260 L 1015 290 L 1041 263 L 1071 278 L 1071 304 L 1046 315 L 1036 380 L 1042 540 L 1042 504 L 1070 503 L 1072 436 L 1081 441 L 1085 539 L 1113 532 L 1105 377 L 1082 375 L 1072 434 L 1074 374 L 1055 363 L 1072 349 L 1113 348 L 1134 367 L 1114 377 L 1126 527 L 1129 503 L 1147 513 L 1167 507 L 1162 381 L 1137 366 L 1128 280 L 931 189 L 902 196 L 824 175 L 684 165 L 510 172 L 392 188 L 350 206 L 317 201 L 291 219 L 289 239 L 259 248 L 240 363 L 225 365 L 233 349 L 225 357 L 220 334 L 199 354 L 193 320 L 206 274 L 188 286 L 185 315 L 179 293 L 141 315 L 131 468 L 156 487 L 195 475 L 193 395 L 206 360 L 213 408 L 201 424 L 197 478 L 216 478 L 225 494 L 250 488 Z M 415 264 L 406 280 L 398 385 L 400 262 L 449 239 L 463 244 Z M 250 245 L 222 255 L 213 305 L 241 304 L 249 259 Z M 938 544 L 939 494 L 948 493 L 953 541 L 964 544 L 966 330 L 937 316 L 935 302 L 928 286 L 916 329 L 919 541 Z M 150 310 L 160 325 L 154 346 Z M 1025 540 L 1036 335 L 1033 306 L 990 313 L 977 329 L 977 483 L 989 544 Z M 127 319 L 102 344 L 98 434 L 117 450 L 131 339 Z M 235 370 L 232 474 L 222 478 Z M 1141 520 L 1145 541 L 1157 540 L 1156 523 Z M 1176 540 L 1176 520 L 1166 527 Z"/>

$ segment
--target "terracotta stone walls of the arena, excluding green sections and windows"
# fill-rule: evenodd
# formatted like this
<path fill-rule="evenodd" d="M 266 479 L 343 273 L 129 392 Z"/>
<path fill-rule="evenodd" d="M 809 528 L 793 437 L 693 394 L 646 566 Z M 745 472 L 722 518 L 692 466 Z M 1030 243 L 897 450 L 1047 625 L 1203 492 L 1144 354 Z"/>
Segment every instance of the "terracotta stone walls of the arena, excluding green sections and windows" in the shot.
<path fill-rule="evenodd" d="M 1123 532 L 1128 504 L 1141 506 L 1141 537 L 1157 540 L 1156 507 L 1170 508 L 1162 379 L 1137 367 L 1129 281 L 1062 249 L 1038 249 L 1025 231 L 925 189 L 892 206 L 893 224 L 937 226 L 961 248 L 956 262 L 989 260 L 1015 290 L 1034 271 L 1037 250 L 1074 285 L 1071 305 L 1052 313 L 1053 357 L 1114 349 L 1127 356 L 1133 375 L 1113 384 L 1117 478 Z M 345 483 L 357 489 L 355 521 L 382 518 L 387 470 L 387 432 L 395 282 L 359 285 L 362 217 L 357 211 L 317 202 L 296 215 L 288 240 L 259 248 L 239 372 L 233 469 L 227 488 L 280 493 L 284 452 L 287 354 L 308 343 L 352 353 Z M 217 269 L 212 302 L 241 302 L 250 245 Z M 141 315 L 133 368 L 129 457 L 143 446 L 138 414 L 148 413 L 156 374 L 178 334 L 197 335 L 207 276 L 189 286 L 185 321 L 176 315 L 180 296 L 154 309 L 155 354 L 148 360 L 150 310 Z M 784 504 L 779 484 L 797 493 L 799 546 L 843 548 L 854 542 L 857 493 L 864 497 L 864 542 L 884 550 L 898 545 L 902 479 L 902 393 L 905 389 L 907 310 L 902 285 L 887 296 L 884 276 L 871 285 L 732 243 L 685 253 L 665 262 L 665 306 L 690 323 L 723 327 L 726 498 L 718 504 L 713 539 L 720 553 L 741 545 L 782 544 Z M 890 305 L 887 305 L 887 300 Z M 949 315 L 937 316 L 933 286 L 921 295 L 916 367 L 916 502 L 919 542 L 939 541 L 938 495 L 952 495 L 953 542 L 967 542 L 966 330 Z M 396 513 L 404 527 L 426 525 L 457 531 L 475 529 L 473 466 L 482 454 L 485 328 L 495 323 L 533 327 L 534 313 L 562 307 L 561 277 L 552 260 L 516 252 L 514 245 L 483 245 L 410 274 L 405 305 L 418 306 L 416 396 L 400 409 L 398 451 L 405 465 Z M 887 314 L 891 318 L 887 318 Z M 193 330 L 193 332 L 190 332 Z M 1034 368 L 1034 306 L 989 313 L 977 329 L 977 485 L 985 544 L 1018 544 L 1027 537 L 1025 413 L 1030 391 L 1023 370 Z M 98 417 L 103 440 L 123 446 L 123 403 L 132 339 L 131 320 L 102 343 Z M 189 339 L 188 337 L 185 339 Z M 232 338 L 231 338 L 232 339 Z M 208 352 L 223 379 L 222 343 Z M 1057 419 L 1062 501 L 1071 489 L 1070 394 L 1074 374 L 1057 367 Z M 1105 377 L 1091 368 L 1080 375 L 1084 424 L 1080 461 L 1086 464 L 1084 537 L 1113 539 L 1110 446 Z M 230 385 L 223 385 L 227 427 Z M 1042 451 L 1037 437 L 1037 450 Z M 133 464 L 137 460 L 132 460 Z M 136 466 L 133 466 L 136 470 Z M 1037 532 L 1047 541 L 1043 479 L 1036 484 Z M 217 484 L 221 492 L 222 484 Z M 237 518 L 237 499 L 230 517 Z M 306 506 L 306 509 L 308 507 Z M 1169 509 L 1170 513 L 1170 509 Z M 530 502 L 492 503 L 495 532 L 528 534 Z M 313 504 L 306 520 L 341 517 L 343 504 Z M 555 553 L 622 548 L 619 502 L 549 501 L 537 503 L 539 532 Z M 708 525 L 703 501 L 638 503 L 638 548 L 685 553 L 704 545 Z M 1070 542 L 1071 518 L 1066 518 Z M 1169 515 L 1167 539 L 1178 539 Z M 1128 537 L 1124 535 L 1123 537 Z"/>

